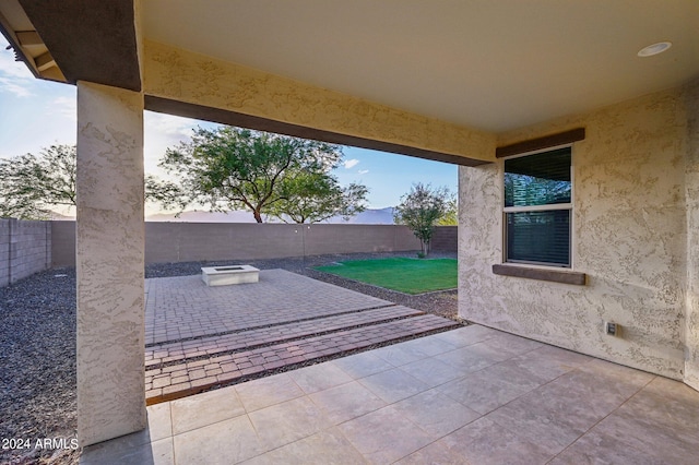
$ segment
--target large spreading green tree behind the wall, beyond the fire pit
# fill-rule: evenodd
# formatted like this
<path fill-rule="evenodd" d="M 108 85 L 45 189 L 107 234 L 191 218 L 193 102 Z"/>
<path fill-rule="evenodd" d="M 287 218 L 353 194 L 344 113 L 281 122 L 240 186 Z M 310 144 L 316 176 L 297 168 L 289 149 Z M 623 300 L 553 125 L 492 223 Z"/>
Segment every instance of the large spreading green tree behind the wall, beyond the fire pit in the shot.
<path fill-rule="evenodd" d="M 324 142 L 239 128 L 199 128 L 191 142 L 168 148 L 159 164 L 179 175 L 180 187 L 152 182 L 151 188 L 166 207 L 244 207 L 258 223 L 262 214 L 320 220 L 363 208 L 366 188 L 353 184 L 343 190 L 330 175 L 341 160 L 341 147 Z"/>

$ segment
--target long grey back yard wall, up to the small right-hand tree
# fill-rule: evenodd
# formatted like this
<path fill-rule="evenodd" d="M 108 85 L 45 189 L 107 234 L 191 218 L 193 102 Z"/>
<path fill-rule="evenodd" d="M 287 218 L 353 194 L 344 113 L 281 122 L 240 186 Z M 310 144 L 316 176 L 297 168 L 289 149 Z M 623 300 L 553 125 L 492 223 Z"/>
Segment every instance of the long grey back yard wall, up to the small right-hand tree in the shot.
<path fill-rule="evenodd" d="M 51 222 L 52 265 L 75 265 L 75 223 Z M 145 262 L 262 260 L 330 253 L 419 250 L 396 225 L 146 223 Z"/>

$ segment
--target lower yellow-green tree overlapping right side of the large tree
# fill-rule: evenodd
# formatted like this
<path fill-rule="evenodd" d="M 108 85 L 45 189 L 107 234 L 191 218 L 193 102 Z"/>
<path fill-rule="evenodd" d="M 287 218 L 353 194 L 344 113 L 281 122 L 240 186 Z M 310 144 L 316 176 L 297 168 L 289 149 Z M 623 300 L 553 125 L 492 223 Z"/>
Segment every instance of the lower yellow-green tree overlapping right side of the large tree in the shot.
<path fill-rule="evenodd" d="M 301 171 L 287 177 L 280 192 L 280 201 L 265 208 L 265 213 L 284 223 L 319 223 L 333 216 L 346 219 L 364 212 L 368 189 L 357 183 L 342 188 L 334 176 Z"/>

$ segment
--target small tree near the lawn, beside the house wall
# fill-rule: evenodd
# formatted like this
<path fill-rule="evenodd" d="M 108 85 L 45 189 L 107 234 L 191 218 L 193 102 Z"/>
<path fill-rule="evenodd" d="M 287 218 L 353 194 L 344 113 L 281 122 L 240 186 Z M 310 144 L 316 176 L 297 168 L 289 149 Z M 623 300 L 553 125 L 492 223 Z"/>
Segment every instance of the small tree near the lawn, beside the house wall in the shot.
<path fill-rule="evenodd" d="M 393 219 L 398 224 L 406 225 L 419 239 L 423 257 L 429 253 L 433 228 L 447 212 L 451 199 L 449 189 L 433 190 L 429 184 L 418 182 L 401 198 L 401 204 L 395 207 Z"/>

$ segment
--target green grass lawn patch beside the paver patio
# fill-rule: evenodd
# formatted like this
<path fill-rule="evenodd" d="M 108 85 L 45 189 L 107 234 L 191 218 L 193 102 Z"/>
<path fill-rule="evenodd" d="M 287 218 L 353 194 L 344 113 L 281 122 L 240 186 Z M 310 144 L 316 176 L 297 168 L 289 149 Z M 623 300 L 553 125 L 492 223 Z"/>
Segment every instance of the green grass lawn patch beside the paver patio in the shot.
<path fill-rule="evenodd" d="M 457 260 L 354 260 L 316 270 L 405 294 L 423 294 L 457 287 Z"/>

